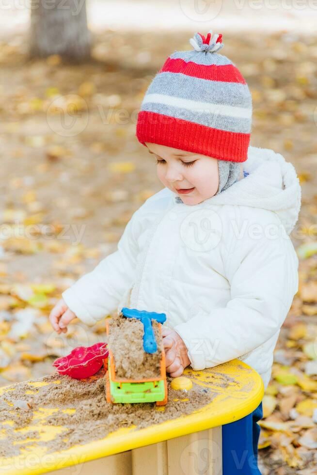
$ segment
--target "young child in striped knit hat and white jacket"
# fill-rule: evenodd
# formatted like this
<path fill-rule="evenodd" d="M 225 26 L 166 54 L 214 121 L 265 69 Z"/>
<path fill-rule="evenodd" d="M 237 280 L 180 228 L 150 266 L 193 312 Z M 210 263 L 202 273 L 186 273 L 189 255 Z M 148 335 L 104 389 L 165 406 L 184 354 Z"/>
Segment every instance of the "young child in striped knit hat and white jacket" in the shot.
<path fill-rule="evenodd" d="M 138 115 L 164 189 L 133 214 L 117 251 L 63 292 L 50 321 L 61 333 L 75 317 L 93 325 L 123 306 L 163 312 L 171 376 L 238 358 L 267 387 L 298 290 L 289 234 L 301 188 L 282 155 L 249 146 L 248 85 L 211 33 L 166 60 Z"/>

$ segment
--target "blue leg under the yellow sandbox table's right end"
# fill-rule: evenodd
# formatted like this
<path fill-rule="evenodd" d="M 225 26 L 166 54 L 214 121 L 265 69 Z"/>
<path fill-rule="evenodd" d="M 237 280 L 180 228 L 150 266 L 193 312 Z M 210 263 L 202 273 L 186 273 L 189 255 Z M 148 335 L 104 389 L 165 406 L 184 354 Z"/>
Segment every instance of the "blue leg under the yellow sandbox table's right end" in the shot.
<path fill-rule="evenodd" d="M 222 426 L 222 475 L 261 475 L 257 466 L 257 445 L 262 419 L 262 402 L 239 421 Z"/>

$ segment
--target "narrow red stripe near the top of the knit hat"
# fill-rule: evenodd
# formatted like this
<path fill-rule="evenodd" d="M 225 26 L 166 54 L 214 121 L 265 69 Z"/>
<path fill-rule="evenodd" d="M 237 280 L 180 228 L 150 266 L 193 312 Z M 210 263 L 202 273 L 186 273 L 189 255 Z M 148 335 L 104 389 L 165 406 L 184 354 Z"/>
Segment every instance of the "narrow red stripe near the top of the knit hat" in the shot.
<path fill-rule="evenodd" d="M 212 54 L 212 53 L 209 53 Z M 246 80 L 233 64 L 197 64 L 192 61 L 186 62 L 181 58 L 168 58 L 159 73 L 182 73 L 200 79 L 213 81 L 238 82 L 246 84 Z"/>

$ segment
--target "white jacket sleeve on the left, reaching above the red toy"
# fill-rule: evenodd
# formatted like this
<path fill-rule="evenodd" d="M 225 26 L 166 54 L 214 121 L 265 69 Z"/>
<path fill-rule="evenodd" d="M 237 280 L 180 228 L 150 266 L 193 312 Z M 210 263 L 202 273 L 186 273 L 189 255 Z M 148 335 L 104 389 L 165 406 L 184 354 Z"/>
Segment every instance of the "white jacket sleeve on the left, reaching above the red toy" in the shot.
<path fill-rule="evenodd" d="M 67 306 L 87 325 L 94 325 L 114 312 L 123 294 L 133 284 L 138 254 L 135 227 L 138 226 L 139 210 L 127 223 L 117 251 L 62 293 Z"/>

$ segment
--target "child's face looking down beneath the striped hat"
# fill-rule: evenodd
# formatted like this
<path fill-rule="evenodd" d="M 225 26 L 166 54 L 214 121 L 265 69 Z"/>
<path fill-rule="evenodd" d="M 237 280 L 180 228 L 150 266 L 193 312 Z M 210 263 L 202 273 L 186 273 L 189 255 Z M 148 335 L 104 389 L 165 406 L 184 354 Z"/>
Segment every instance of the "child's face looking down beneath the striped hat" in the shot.
<path fill-rule="evenodd" d="M 177 148 L 145 142 L 157 159 L 157 173 L 163 185 L 177 193 L 185 205 L 198 205 L 217 193 L 218 159 Z M 190 189 L 182 193 L 180 189 Z"/>

